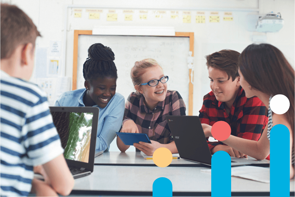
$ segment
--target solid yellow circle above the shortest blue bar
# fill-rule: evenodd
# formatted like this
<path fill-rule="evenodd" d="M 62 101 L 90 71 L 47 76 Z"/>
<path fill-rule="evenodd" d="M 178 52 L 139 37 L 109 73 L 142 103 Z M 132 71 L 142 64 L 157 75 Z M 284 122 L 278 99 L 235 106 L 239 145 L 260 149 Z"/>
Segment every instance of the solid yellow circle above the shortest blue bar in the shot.
<path fill-rule="evenodd" d="M 153 154 L 153 161 L 161 168 L 167 167 L 172 162 L 172 153 L 169 149 L 158 148 Z"/>

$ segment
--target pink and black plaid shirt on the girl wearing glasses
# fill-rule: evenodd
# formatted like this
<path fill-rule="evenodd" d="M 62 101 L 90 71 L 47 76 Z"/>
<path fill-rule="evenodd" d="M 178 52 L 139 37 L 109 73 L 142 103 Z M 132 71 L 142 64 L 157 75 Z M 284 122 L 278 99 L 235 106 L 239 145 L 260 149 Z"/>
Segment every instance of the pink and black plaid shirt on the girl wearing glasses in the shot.
<path fill-rule="evenodd" d="M 146 133 L 150 140 L 161 144 L 173 142 L 166 115 L 185 115 L 185 104 L 177 91 L 168 90 L 166 99 L 150 110 L 144 103 L 144 96 L 132 92 L 125 103 L 125 119 L 132 119 L 139 133 Z"/>

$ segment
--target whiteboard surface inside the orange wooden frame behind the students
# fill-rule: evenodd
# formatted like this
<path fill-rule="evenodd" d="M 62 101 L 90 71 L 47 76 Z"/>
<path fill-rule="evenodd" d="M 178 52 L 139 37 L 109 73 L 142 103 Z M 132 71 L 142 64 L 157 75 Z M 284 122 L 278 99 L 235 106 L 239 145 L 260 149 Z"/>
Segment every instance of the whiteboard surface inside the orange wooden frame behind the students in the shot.
<path fill-rule="evenodd" d="M 135 92 L 130 72 L 136 61 L 155 59 L 169 77 L 168 90 L 177 90 L 186 104 L 188 115 L 189 98 L 189 37 L 174 36 L 105 36 L 79 35 L 77 57 L 77 89 L 84 87 L 83 64 L 88 57 L 88 48 L 94 43 L 110 47 L 115 54 L 118 79 L 116 92 L 125 97 Z"/>

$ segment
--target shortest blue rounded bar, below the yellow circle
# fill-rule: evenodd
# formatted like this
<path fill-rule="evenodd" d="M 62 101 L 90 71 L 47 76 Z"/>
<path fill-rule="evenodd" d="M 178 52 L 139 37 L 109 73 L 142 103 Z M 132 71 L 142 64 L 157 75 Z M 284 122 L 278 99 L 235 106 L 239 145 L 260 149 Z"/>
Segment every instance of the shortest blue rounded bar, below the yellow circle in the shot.
<path fill-rule="evenodd" d="M 172 183 L 168 178 L 157 178 L 153 183 L 153 197 L 172 197 Z"/>

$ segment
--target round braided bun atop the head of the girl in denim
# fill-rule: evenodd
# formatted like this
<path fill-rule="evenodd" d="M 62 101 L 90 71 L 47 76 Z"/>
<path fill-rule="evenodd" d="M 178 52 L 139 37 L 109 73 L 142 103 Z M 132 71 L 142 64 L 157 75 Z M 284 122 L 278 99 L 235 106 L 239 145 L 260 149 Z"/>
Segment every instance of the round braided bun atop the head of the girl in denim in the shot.
<path fill-rule="evenodd" d="M 96 61 L 114 61 L 115 54 L 112 49 L 101 43 L 92 44 L 88 48 L 88 57 Z"/>

